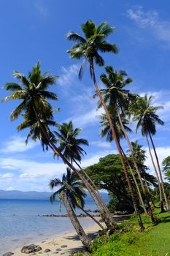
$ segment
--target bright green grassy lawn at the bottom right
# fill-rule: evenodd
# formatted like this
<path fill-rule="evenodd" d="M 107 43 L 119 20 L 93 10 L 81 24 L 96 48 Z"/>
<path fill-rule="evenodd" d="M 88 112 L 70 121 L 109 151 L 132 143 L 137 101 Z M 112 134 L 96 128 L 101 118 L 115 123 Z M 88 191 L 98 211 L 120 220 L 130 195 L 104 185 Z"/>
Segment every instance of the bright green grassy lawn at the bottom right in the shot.
<path fill-rule="evenodd" d="M 93 256 L 170 256 L 170 214 L 158 214 L 158 225 L 142 216 L 145 230 L 139 232 L 136 218 L 121 225 L 121 230 L 110 236 L 99 237 L 93 244 Z"/>

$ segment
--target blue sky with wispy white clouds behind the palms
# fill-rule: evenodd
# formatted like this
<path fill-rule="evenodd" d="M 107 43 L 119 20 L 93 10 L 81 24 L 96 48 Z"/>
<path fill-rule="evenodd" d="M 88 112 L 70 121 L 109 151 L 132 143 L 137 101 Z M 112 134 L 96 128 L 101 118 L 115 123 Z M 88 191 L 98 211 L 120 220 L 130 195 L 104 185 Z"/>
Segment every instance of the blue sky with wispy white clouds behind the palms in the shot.
<path fill-rule="evenodd" d="M 55 115 L 58 123 L 74 121 L 82 128 L 82 137 L 89 140 L 87 156 L 82 166 L 98 161 L 99 157 L 115 153 L 114 143 L 107 144 L 99 137 L 99 120 L 93 83 L 86 67 L 82 81 L 77 79 L 80 61 L 69 59 L 66 50 L 72 42 L 66 40 L 68 31 L 80 31 L 80 25 L 91 19 L 95 23 L 106 20 L 116 27 L 109 42 L 116 43 L 117 55 L 105 54 L 106 64 L 115 69 L 125 69 L 133 78 L 129 89 L 138 94 L 155 96 L 153 104 L 163 105 L 159 115 L 165 121 L 158 127 L 155 145 L 160 159 L 169 155 L 170 108 L 170 3 L 169 1 L 55 1 L 55 0 L 6 0 L 0 1 L 0 83 L 14 81 L 13 70 L 27 74 L 41 61 L 42 71 L 51 70 L 59 75 L 53 91 L 58 94 L 54 108 L 61 108 Z M 96 77 L 104 72 L 96 67 Z M 98 80 L 99 85 L 101 83 Z M 7 92 L 1 89 L 1 98 Z M 47 191 L 50 178 L 61 177 L 66 166 L 53 159 L 51 151 L 42 152 L 39 143 L 30 140 L 25 146 L 26 132 L 16 131 L 18 121 L 9 121 L 9 114 L 18 102 L 1 104 L 0 189 Z M 134 125 L 132 126 L 134 129 Z M 147 149 L 140 133 L 131 135 Z M 123 142 L 124 148 L 127 148 Z M 150 159 L 147 165 L 152 167 Z"/>

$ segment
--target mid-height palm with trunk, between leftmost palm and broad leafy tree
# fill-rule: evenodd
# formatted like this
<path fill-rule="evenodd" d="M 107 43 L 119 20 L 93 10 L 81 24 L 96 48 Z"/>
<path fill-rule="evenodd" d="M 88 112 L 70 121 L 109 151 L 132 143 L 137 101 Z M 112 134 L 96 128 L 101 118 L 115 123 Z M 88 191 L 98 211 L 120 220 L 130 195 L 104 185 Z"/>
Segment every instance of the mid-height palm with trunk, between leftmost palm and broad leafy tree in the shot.
<path fill-rule="evenodd" d="M 58 132 L 54 132 L 57 137 L 57 142 L 60 143 L 58 149 L 63 153 L 63 156 L 69 160 L 69 162 L 76 163 L 76 165 L 80 168 L 81 173 L 83 173 L 83 175 L 87 178 L 88 182 L 91 183 L 91 185 L 89 184 L 89 186 L 95 189 L 90 189 L 89 192 L 90 195 L 93 197 L 93 200 L 96 202 L 98 209 L 100 209 L 101 217 L 104 219 L 106 225 L 110 226 L 108 222 L 109 217 L 112 225 L 116 227 L 114 219 L 109 213 L 109 210 L 104 203 L 104 200 L 101 198 L 101 195 L 99 194 L 96 185 L 80 166 L 82 157 L 86 154 L 85 150 L 81 147 L 81 145 L 88 146 L 88 140 L 85 140 L 83 138 L 77 138 L 81 131 L 82 129 L 80 128 L 74 129 L 72 121 L 69 121 L 69 123 L 61 124 L 60 127 L 58 127 Z"/>

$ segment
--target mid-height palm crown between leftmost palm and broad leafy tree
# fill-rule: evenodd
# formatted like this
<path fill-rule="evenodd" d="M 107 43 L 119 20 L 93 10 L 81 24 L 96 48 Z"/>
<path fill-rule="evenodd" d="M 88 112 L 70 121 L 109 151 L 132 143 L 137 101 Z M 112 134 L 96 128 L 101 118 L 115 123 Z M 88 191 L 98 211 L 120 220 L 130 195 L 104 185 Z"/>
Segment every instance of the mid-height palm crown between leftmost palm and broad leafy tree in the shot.
<path fill-rule="evenodd" d="M 63 123 L 58 127 L 58 132 L 54 132 L 58 143 L 59 150 L 63 152 L 63 156 L 70 162 L 81 162 L 82 157 L 86 154 L 85 150 L 80 145 L 88 146 L 88 140 L 77 138 L 82 129 L 74 129 L 72 121 Z"/>

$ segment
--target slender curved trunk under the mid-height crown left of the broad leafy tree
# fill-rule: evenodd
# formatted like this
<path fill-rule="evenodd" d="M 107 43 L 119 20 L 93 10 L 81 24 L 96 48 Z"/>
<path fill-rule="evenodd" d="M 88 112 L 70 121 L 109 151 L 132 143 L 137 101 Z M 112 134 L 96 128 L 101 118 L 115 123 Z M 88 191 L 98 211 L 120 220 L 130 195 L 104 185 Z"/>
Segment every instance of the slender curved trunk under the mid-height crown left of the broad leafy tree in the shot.
<path fill-rule="evenodd" d="M 88 176 L 87 173 L 85 173 L 85 171 L 82 169 L 82 167 L 77 163 L 76 160 L 74 160 L 74 162 L 76 163 L 76 165 L 80 168 L 80 170 L 82 171 L 82 173 L 86 176 L 86 178 L 88 178 L 88 180 L 90 181 L 91 183 L 91 186 L 93 186 L 93 189 L 95 189 L 95 192 L 96 192 L 96 196 L 97 196 L 97 199 L 98 199 L 98 202 L 101 204 L 101 210 L 103 212 L 103 208 L 104 208 L 104 211 L 107 213 L 107 216 L 106 217 L 109 217 L 109 219 L 111 220 L 111 222 L 113 223 L 113 225 L 115 225 L 114 223 L 114 219 L 112 218 L 112 215 L 110 214 L 109 212 L 109 209 L 107 208 L 106 206 L 106 203 L 104 202 L 103 198 L 101 197 L 96 185 L 94 184 L 94 182 L 92 181 L 92 179 L 90 178 L 90 176 Z M 101 213 L 102 214 L 102 213 Z M 105 219 L 106 221 L 106 219 Z"/>

